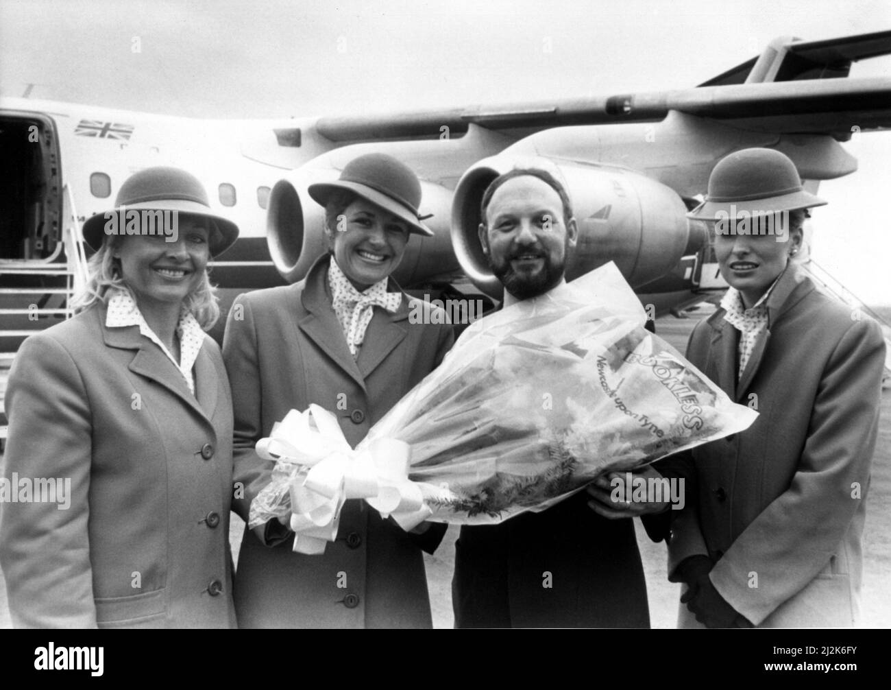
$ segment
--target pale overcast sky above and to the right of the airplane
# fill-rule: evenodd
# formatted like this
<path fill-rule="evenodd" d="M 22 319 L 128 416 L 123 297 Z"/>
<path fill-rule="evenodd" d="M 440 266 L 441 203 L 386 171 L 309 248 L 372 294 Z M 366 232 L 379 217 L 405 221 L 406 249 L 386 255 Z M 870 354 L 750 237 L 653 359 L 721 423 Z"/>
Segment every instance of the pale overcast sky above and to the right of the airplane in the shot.
<path fill-rule="evenodd" d="M 0 0 L 0 94 L 197 118 L 406 111 L 685 88 L 775 37 L 887 29 L 887 0 Z M 891 79 L 891 56 L 852 76 Z M 891 132 L 846 147 L 860 169 L 821 185 L 813 257 L 891 304 Z"/>

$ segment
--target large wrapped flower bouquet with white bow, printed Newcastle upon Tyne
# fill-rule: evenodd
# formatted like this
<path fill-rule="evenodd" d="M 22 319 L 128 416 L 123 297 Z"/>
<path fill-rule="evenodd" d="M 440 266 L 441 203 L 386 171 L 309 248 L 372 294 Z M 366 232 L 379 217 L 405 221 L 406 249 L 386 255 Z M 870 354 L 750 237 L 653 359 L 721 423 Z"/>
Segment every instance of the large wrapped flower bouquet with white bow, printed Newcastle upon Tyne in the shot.
<path fill-rule="evenodd" d="M 486 316 L 352 455 L 342 436 L 331 440 L 333 415 L 318 409 L 300 417 L 301 431 L 291 420 L 290 431 L 257 444 L 277 464 L 250 524 L 290 517 L 298 536 L 302 527 L 328 538 L 339 505 L 359 496 L 406 529 L 425 519 L 501 522 L 542 511 L 602 472 L 748 428 L 756 412 L 732 403 L 645 320 L 613 264 Z"/>

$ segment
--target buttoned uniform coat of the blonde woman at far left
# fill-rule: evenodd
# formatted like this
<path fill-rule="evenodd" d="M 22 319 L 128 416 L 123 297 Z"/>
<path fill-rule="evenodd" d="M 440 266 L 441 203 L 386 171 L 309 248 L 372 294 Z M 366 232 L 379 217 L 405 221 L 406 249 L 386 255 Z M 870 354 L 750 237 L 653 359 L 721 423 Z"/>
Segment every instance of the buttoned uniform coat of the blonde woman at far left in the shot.
<path fill-rule="evenodd" d="M 4 477 L 69 478 L 70 506 L 4 504 L 16 627 L 233 628 L 232 401 L 217 343 L 196 395 L 97 304 L 31 336 L 6 391 Z"/>

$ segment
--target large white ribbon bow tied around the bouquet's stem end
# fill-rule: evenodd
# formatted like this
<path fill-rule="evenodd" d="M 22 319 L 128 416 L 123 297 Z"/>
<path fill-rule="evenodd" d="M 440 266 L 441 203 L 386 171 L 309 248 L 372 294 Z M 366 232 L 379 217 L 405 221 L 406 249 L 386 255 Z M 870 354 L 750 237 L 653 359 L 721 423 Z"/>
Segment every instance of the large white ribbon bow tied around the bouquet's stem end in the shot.
<path fill-rule="evenodd" d="M 323 554 L 337 538 L 340 510 L 348 498 L 364 498 L 383 517 L 392 515 L 404 530 L 423 522 L 432 511 L 421 488 L 408 479 L 412 448 L 397 439 L 375 439 L 350 448 L 337 417 L 318 405 L 291 410 L 257 441 L 257 455 L 276 460 L 276 470 L 290 472 L 290 529 L 294 551 Z M 263 504 L 263 489 L 255 502 Z M 251 504 L 251 513 L 254 513 Z"/>

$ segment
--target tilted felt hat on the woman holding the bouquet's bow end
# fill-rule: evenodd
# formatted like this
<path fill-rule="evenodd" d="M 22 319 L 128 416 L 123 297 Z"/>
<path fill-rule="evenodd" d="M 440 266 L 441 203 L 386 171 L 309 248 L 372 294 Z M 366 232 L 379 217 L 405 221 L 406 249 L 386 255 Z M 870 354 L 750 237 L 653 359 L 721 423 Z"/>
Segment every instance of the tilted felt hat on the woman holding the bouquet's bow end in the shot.
<path fill-rule="evenodd" d="M 405 220 L 409 232 L 433 236 L 433 231 L 421 223 L 418 206 L 421 204 L 421 183 L 412 168 L 386 153 L 366 153 L 347 163 L 334 182 L 309 185 L 311 197 L 323 206 L 331 193 L 345 189 L 371 201 L 375 206 Z"/>

